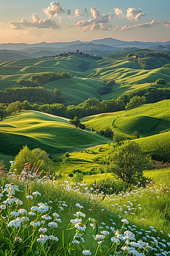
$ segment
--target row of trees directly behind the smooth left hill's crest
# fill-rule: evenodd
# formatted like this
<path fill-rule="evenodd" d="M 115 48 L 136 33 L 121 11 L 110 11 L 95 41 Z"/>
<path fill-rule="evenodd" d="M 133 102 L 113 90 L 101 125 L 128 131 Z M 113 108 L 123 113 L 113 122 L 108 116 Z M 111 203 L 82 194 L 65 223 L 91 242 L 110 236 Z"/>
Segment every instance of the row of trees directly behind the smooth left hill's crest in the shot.
<path fill-rule="evenodd" d="M 65 106 L 60 103 L 40 105 L 37 103 L 30 104 L 27 100 L 23 102 L 15 101 L 11 102 L 10 104 L 0 104 L 0 117 L 2 119 L 6 117 L 6 115 L 20 112 L 23 109 L 36 110 L 43 113 L 73 119 L 74 117 L 82 118 L 87 117 L 88 115 L 121 111 L 125 109 L 125 104 L 122 100 L 103 100 L 100 102 L 97 98 L 88 98 L 88 100 L 77 106 Z"/>

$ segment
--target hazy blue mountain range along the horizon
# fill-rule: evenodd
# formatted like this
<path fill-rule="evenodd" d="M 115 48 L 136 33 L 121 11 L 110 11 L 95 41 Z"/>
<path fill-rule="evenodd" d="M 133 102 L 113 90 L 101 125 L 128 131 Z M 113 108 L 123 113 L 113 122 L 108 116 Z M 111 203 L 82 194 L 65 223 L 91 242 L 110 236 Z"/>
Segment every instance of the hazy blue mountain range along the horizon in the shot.
<path fill-rule="evenodd" d="M 54 56 L 63 52 L 73 52 L 76 49 L 91 55 L 109 56 L 141 48 L 151 48 L 156 51 L 170 51 L 170 41 L 128 42 L 113 38 L 104 38 L 92 40 L 91 42 L 76 40 L 74 42 L 42 42 L 35 44 L 7 43 L 0 44 L 0 62 L 30 57 Z"/>

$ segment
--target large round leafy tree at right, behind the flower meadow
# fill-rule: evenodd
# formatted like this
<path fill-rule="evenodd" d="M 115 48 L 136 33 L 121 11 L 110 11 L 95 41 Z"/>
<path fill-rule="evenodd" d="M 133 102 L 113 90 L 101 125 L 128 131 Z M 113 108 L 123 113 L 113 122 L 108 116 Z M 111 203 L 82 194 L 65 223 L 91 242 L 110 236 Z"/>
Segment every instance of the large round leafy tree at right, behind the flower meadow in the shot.
<path fill-rule="evenodd" d="M 111 171 L 130 186 L 143 181 L 143 171 L 151 168 L 152 161 L 138 143 L 126 140 L 111 154 L 110 164 Z"/>

